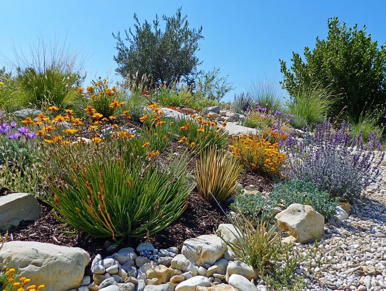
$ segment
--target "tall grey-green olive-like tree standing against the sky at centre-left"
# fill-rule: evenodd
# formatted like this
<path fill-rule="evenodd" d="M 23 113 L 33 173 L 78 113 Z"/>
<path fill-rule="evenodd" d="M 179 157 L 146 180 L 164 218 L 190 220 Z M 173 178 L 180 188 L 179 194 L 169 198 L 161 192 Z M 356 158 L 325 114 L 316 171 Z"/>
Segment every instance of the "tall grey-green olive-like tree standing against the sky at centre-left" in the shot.
<path fill-rule="evenodd" d="M 135 32 L 125 30 L 129 47 L 119 32 L 117 35 L 113 33 L 118 50 L 114 56 L 118 64 L 115 71 L 135 85 L 146 75 L 151 88 L 162 84 L 171 87 L 173 82 L 179 80 L 192 85 L 198 74 L 197 66 L 202 63 L 195 52 L 200 50 L 198 41 L 204 37 L 201 35 L 202 26 L 198 31 L 189 28 L 187 15 L 181 15 L 181 8 L 172 17 L 163 15 L 165 31 L 161 31 L 157 15 L 153 25 L 147 20 L 141 25 L 134 14 Z"/>

